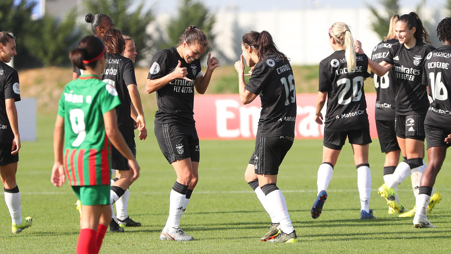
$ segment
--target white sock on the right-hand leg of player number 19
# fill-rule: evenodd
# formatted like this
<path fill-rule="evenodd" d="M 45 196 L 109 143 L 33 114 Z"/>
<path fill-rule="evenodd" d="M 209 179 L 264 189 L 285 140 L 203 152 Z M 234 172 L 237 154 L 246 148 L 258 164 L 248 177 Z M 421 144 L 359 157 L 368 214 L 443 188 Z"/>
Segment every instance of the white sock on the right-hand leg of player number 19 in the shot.
<path fill-rule="evenodd" d="M 274 213 L 275 221 L 279 221 L 283 233 L 290 234 L 294 231 L 291 223 L 288 209 L 286 208 L 285 198 L 279 189 L 271 191 L 265 197 L 265 203 L 270 204 L 270 209 Z M 271 218 L 271 221 L 272 218 Z"/>

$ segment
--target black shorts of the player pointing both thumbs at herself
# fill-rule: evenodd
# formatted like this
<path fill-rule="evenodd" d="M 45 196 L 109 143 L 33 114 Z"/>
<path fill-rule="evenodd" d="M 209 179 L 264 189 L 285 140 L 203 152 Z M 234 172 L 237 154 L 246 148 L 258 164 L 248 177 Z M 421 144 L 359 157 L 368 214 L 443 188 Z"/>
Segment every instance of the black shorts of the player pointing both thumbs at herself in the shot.
<path fill-rule="evenodd" d="M 187 158 L 192 162 L 199 162 L 199 138 L 196 127 L 177 123 L 155 124 L 154 132 L 160 150 L 169 164 Z"/>

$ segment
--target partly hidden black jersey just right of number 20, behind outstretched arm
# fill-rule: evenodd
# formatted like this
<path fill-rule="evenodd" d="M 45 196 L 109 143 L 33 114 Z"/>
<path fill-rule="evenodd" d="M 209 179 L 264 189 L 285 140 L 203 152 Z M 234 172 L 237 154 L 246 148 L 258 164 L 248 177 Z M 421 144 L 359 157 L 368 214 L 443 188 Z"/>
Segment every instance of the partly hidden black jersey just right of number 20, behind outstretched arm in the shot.
<path fill-rule="evenodd" d="M 390 48 L 397 39 L 383 40 L 379 42 L 373 49 L 371 60 L 380 63 L 387 57 Z M 395 71 L 390 70 L 382 77 L 377 76 L 371 72 L 374 78 L 374 85 L 376 87 L 376 120 L 395 120 L 395 94 L 396 94 L 396 77 Z"/>

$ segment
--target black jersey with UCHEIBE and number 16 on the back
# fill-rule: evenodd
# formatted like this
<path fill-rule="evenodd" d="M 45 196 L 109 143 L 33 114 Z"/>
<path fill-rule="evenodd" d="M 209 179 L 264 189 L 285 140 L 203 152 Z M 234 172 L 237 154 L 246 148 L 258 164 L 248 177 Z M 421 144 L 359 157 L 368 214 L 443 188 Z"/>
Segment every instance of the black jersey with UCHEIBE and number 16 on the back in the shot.
<path fill-rule="evenodd" d="M 451 46 L 442 45 L 426 56 L 423 84 L 433 100 L 424 123 L 451 127 Z"/>

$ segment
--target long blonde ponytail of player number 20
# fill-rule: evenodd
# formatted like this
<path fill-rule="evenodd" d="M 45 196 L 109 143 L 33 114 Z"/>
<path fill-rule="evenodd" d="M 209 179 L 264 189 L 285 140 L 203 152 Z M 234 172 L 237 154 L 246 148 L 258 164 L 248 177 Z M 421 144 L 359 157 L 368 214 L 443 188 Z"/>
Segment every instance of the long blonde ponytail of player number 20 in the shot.
<path fill-rule="evenodd" d="M 343 22 L 336 22 L 332 25 L 330 32 L 334 36 L 337 43 L 343 44 L 345 50 L 346 62 L 348 64 L 348 72 L 356 71 L 357 60 L 354 45 L 354 38 L 352 37 L 349 26 Z"/>

